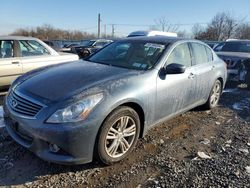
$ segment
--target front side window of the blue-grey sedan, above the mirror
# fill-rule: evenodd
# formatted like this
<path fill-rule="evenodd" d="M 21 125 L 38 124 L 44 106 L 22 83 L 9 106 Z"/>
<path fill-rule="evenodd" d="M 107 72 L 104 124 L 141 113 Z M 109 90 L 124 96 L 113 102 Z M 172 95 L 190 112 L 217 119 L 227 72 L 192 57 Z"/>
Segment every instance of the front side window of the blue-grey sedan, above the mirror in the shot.
<path fill-rule="evenodd" d="M 167 64 L 179 63 L 186 67 L 191 66 L 191 56 L 187 43 L 180 44 L 171 52 L 168 57 Z"/>

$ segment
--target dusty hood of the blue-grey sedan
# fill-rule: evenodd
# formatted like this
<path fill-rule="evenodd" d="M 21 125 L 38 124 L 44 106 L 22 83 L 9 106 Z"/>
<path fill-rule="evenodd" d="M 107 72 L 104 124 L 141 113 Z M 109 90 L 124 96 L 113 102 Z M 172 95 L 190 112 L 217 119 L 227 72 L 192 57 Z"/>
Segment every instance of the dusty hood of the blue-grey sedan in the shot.
<path fill-rule="evenodd" d="M 49 101 L 58 101 L 73 97 L 92 87 L 103 87 L 104 83 L 110 80 L 118 80 L 138 72 L 88 61 L 77 61 L 24 75 L 17 90 Z"/>

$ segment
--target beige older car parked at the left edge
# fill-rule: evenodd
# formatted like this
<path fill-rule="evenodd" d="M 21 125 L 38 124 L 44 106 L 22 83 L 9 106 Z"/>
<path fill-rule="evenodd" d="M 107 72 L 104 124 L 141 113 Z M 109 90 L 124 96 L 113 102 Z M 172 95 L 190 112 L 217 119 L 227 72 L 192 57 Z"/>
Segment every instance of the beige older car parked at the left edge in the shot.
<path fill-rule="evenodd" d="M 30 70 L 78 59 L 73 54 L 59 54 L 36 38 L 0 36 L 0 89 Z"/>

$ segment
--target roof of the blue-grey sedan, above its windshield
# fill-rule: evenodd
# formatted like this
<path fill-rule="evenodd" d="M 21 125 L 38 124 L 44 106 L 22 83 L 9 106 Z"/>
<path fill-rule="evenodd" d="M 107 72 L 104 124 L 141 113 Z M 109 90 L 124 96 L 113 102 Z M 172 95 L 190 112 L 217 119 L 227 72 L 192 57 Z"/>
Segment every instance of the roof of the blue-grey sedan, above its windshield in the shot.
<path fill-rule="evenodd" d="M 193 39 L 186 39 L 186 38 L 180 38 L 180 37 L 167 37 L 167 36 L 128 37 L 128 38 L 124 38 L 118 41 L 144 41 L 144 42 L 152 42 L 152 43 L 169 44 L 169 43 L 175 43 L 177 41 L 184 41 L 184 40 L 185 41 L 198 41 L 198 40 L 193 40 Z"/>

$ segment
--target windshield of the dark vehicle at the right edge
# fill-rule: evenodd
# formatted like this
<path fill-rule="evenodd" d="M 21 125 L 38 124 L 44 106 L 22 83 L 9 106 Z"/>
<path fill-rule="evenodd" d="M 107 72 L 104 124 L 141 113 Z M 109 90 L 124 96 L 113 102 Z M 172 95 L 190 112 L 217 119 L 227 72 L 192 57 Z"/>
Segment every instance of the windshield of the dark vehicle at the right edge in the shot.
<path fill-rule="evenodd" d="M 227 42 L 221 51 L 250 53 L 250 42 Z"/>

